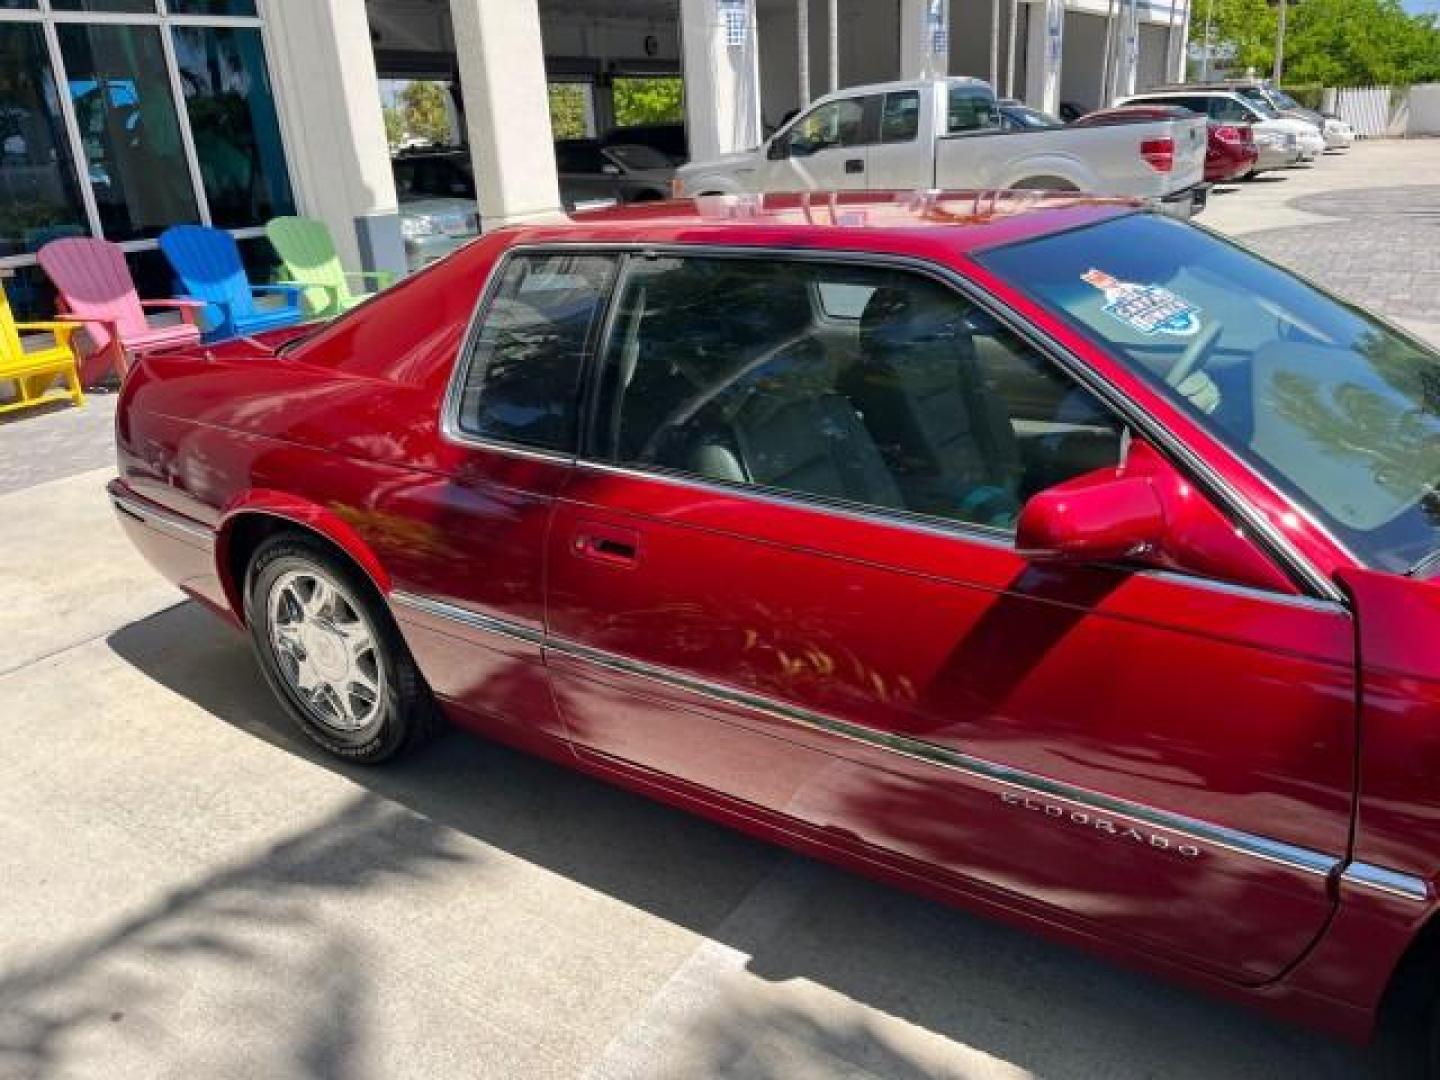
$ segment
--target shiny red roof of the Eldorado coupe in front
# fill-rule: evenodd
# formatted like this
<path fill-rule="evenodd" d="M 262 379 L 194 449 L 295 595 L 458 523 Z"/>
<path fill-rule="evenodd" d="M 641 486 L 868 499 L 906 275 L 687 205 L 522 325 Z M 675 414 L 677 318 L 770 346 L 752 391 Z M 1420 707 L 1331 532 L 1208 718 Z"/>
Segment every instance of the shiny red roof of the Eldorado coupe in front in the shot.
<path fill-rule="evenodd" d="M 907 242 L 924 236 L 950 252 L 971 252 L 1133 213 L 1142 204 L 1138 199 L 1064 192 L 717 194 L 592 210 L 504 232 L 511 243 L 792 246 L 812 240 L 827 251 L 904 251 Z"/>

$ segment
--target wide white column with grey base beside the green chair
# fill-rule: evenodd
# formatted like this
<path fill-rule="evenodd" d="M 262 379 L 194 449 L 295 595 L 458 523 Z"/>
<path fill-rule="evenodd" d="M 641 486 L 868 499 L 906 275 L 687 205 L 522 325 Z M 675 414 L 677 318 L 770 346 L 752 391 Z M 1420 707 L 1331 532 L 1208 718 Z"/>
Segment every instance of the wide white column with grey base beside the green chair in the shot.
<path fill-rule="evenodd" d="M 266 45 L 300 212 L 347 266 L 403 274 L 405 240 L 364 4 L 268 3 Z"/>

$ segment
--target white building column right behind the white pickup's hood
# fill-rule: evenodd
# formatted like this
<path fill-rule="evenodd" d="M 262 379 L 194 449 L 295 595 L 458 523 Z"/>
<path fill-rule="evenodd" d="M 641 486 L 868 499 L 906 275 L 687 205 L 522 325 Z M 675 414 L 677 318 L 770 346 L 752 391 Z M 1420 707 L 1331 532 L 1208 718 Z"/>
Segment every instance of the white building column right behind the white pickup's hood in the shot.
<path fill-rule="evenodd" d="M 755 0 L 680 0 L 690 157 L 760 145 L 760 42 Z"/>

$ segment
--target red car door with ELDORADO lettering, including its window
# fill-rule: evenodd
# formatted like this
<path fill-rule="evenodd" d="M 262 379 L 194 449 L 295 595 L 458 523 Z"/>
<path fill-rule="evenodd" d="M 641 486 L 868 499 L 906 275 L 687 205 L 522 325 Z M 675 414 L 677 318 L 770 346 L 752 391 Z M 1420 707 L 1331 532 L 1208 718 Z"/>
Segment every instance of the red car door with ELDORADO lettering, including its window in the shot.
<path fill-rule="evenodd" d="M 1122 432 L 929 276 L 652 255 L 612 327 L 547 560 L 577 753 L 1225 978 L 1303 953 L 1348 842 L 1342 611 L 1027 562 L 1021 503 Z"/>

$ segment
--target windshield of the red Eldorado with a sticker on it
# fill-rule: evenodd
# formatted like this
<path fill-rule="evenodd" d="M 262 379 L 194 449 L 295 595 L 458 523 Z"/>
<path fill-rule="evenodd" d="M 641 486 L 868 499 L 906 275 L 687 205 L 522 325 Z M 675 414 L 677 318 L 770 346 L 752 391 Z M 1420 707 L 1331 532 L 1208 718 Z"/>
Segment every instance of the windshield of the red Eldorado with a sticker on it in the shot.
<path fill-rule="evenodd" d="M 1440 354 L 1168 217 L 979 261 L 1152 382 L 1362 562 L 1407 570 L 1440 547 Z"/>

